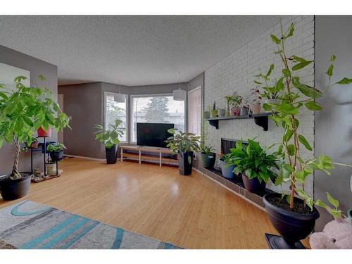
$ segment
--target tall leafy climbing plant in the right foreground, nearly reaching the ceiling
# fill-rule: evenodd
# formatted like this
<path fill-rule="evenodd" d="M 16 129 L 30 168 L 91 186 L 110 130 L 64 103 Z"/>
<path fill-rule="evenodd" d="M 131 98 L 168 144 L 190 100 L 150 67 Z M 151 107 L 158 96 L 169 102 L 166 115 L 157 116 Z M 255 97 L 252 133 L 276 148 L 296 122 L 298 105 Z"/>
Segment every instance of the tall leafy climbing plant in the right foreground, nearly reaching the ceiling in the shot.
<path fill-rule="evenodd" d="M 313 151 L 313 148 L 299 130 L 300 122 L 298 115 L 303 108 L 309 111 L 320 111 L 322 106 L 315 101 L 315 99 L 321 97 L 322 92 L 315 87 L 310 87 L 308 84 L 303 84 L 300 77 L 298 77 L 298 72 L 313 63 L 313 61 L 298 57 L 295 54 L 287 53 L 285 44 L 287 39 L 290 39 L 293 35 L 294 23 L 292 23 L 286 31 L 282 30 L 281 27 L 279 37 L 274 34 L 270 35 L 272 42 L 277 45 L 275 54 L 279 56 L 282 61 L 281 74 L 277 77 L 274 84 L 269 86 L 267 82 L 268 77 L 275 67 L 274 65 L 270 65 L 270 69 L 268 70 L 269 74 L 257 75 L 260 79 L 256 80 L 256 84 L 262 85 L 262 88 L 268 94 L 268 98 L 270 98 L 270 96 L 279 98 L 279 103 L 265 103 L 263 105 L 266 111 L 272 111 L 273 114 L 270 118 L 274 120 L 276 125 L 281 125 L 283 131 L 282 142 L 279 144 L 277 151 L 282 159 L 282 163 L 280 174 L 275 184 L 282 184 L 282 182 L 290 183 L 290 189 L 285 194 L 287 195 L 287 201 L 289 201 L 291 209 L 294 207 L 294 196 L 298 195 L 304 199 L 312 210 L 315 203 L 317 206 L 327 208 L 329 213 L 334 215 L 335 218 L 339 218 L 341 217 L 341 210 L 338 209 L 339 202 L 336 199 L 327 194 L 327 199 L 333 206 L 333 208 L 331 208 L 320 200 L 314 201 L 304 190 L 306 177 L 313 175 L 314 170 L 323 170 L 329 175 L 329 170 L 334 168 L 334 165 L 332 159 L 324 155 L 303 160 L 300 154 L 302 148 L 306 148 L 308 151 Z M 332 83 L 334 71 L 333 63 L 335 59 L 335 56 L 330 58 L 331 64 L 326 72 L 329 79 L 327 89 L 337 84 L 352 83 L 352 79 L 346 77 L 338 82 Z"/>

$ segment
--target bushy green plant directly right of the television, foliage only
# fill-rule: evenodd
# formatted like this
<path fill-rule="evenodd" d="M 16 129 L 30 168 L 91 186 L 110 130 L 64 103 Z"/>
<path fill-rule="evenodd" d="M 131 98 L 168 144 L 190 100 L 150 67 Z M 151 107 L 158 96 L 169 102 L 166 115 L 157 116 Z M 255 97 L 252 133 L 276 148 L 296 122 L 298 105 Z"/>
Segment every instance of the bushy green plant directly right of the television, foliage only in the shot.
<path fill-rule="evenodd" d="M 165 142 L 168 144 L 167 147 L 170 148 L 173 153 L 199 151 L 200 137 L 196 136 L 196 134 L 180 132 L 180 130 L 177 130 L 176 128 L 171 128 L 168 132 L 172 134 L 172 137 L 169 137 Z"/>

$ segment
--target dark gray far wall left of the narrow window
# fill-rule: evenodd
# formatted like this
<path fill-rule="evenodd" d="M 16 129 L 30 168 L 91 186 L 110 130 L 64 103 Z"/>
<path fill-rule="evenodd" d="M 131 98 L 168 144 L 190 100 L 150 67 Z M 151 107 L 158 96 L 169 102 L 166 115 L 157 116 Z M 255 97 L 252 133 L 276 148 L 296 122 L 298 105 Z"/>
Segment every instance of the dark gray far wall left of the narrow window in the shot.
<path fill-rule="evenodd" d="M 60 86 L 58 94 L 63 94 L 63 111 L 72 118 L 72 130 L 63 131 L 65 153 L 105 158 L 103 146 L 94 139 L 94 125 L 103 124 L 101 82 Z"/>

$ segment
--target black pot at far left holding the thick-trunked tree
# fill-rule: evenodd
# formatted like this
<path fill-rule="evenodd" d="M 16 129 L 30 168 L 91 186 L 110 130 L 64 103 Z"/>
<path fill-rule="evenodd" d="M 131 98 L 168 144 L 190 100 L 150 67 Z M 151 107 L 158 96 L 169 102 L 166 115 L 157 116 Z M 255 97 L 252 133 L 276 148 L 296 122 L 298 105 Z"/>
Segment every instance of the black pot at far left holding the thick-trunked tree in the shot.
<path fill-rule="evenodd" d="M 30 172 L 20 172 L 23 175 L 20 179 L 10 180 L 10 175 L 3 175 L 0 177 L 0 193 L 2 199 L 15 200 L 25 196 L 30 189 L 30 180 L 32 174 Z"/>

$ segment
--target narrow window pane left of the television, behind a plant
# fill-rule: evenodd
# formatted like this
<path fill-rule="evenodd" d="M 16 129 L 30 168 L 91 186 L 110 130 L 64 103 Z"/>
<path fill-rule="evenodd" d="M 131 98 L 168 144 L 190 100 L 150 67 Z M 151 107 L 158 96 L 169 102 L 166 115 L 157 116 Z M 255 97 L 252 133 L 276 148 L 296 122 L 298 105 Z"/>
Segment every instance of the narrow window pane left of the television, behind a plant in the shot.
<path fill-rule="evenodd" d="M 123 134 L 122 138 L 120 139 L 120 142 L 126 142 L 127 141 L 127 115 L 126 115 L 126 104 L 127 104 L 127 99 L 125 100 L 125 103 L 116 103 L 114 101 L 114 94 L 106 94 L 106 122 L 105 122 L 105 128 L 107 129 L 109 125 L 114 125 L 116 119 L 122 120 L 122 124 L 120 127 L 125 129 L 125 133 Z"/>

